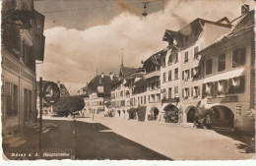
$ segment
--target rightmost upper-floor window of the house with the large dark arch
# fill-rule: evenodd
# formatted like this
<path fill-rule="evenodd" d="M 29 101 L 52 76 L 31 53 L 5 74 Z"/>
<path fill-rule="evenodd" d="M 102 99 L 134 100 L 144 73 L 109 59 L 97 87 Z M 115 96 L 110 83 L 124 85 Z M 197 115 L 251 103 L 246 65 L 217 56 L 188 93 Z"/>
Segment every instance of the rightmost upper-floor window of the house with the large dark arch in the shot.
<path fill-rule="evenodd" d="M 236 49 L 233 51 L 232 67 L 236 68 L 245 64 L 245 48 Z"/>

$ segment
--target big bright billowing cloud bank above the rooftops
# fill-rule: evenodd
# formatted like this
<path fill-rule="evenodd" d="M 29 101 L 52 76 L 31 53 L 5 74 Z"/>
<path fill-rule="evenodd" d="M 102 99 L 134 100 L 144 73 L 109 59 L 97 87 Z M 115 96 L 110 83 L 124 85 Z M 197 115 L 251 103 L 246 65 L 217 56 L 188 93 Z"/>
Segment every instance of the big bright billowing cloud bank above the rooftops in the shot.
<path fill-rule="evenodd" d="M 141 60 L 166 46 L 161 41 L 165 29 L 178 30 L 196 18 L 217 21 L 226 16 L 232 20 L 240 15 L 242 4 L 253 6 L 253 1 L 242 0 L 171 0 L 163 11 L 145 18 L 135 15 L 123 1 L 118 3 L 128 10 L 107 25 L 46 29 L 45 59 L 37 65 L 37 76 L 67 83 L 75 94 L 96 75 L 96 67 L 105 74 L 118 72 L 122 48 L 125 66 L 140 67 Z"/>

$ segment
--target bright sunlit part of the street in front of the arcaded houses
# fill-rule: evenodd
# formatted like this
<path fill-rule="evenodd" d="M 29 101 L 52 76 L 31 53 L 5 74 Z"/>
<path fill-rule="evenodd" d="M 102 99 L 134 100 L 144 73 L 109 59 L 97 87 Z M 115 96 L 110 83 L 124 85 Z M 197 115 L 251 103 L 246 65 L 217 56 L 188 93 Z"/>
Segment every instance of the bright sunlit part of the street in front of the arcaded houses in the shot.
<path fill-rule="evenodd" d="M 101 123 L 114 133 L 149 147 L 174 160 L 251 159 L 253 153 L 239 149 L 241 141 L 224 137 L 212 130 L 184 128 L 174 124 L 138 122 L 118 118 L 77 119 Z"/>

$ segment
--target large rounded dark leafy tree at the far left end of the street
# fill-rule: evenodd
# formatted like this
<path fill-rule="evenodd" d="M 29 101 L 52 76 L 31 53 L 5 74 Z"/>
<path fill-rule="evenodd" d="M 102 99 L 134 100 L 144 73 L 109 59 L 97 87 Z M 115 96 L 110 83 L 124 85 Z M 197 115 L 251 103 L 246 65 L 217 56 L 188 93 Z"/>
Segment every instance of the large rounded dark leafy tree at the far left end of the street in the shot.
<path fill-rule="evenodd" d="M 80 96 L 62 96 L 53 105 L 53 111 L 59 116 L 68 116 L 70 113 L 81 111 L 85 107 L 84 99 Z"/>

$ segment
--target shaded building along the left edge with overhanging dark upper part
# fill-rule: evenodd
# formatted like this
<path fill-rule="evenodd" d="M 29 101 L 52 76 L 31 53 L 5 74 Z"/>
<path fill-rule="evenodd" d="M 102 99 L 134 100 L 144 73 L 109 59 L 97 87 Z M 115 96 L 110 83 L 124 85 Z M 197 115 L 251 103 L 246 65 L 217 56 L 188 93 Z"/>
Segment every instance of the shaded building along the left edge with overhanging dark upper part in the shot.
<path fill-rule="evenodd" d="M 22 134 L 36 119 L 35 62 L 43 61 L 44 16 L 32 0 L 2 2 L 3 137 Z"/>

